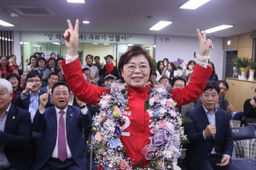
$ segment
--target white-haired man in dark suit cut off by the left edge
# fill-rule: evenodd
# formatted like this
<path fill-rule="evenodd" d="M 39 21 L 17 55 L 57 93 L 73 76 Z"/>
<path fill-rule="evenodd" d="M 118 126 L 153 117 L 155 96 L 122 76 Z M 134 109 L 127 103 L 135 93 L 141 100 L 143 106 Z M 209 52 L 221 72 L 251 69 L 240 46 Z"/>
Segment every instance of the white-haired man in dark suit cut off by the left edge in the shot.
<path fill-rule="evenodd" d="M 13 89 L 0 81 L 0 169 L 32 170 L 32 122 L 28 111 L 11 104 Z"/>

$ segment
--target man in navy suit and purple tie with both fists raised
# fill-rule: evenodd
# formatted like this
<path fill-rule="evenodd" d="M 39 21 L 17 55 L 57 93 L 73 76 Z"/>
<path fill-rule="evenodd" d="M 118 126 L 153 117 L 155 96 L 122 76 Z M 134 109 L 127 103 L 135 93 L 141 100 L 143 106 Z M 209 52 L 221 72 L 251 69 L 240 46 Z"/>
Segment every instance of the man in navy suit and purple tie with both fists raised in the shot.
<path fill-rule="evenodd" d="M 83 128 L 88 128 L 91 123 L 86 105 L 79 100 L 80 108 L 68 105 L 71 95 L 66 82 L 55 83 L 50 95 L 55 106 L 45 109 L 48 96 L 40 96 L 32 123 L 33 131 L 43 134 L 34 169 L 86 169 Z"/>

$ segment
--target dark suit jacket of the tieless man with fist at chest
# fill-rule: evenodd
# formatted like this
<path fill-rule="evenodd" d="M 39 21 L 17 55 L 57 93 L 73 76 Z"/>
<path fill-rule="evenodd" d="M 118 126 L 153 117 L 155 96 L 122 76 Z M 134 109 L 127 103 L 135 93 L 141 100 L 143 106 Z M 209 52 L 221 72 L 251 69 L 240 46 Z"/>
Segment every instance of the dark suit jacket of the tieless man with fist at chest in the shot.
<path fill-rule="evenodd" d="M 207 113 L 203 106 L 200 105 L 186 113 L 192 122 L 184 124 L 184 133 L 188 136 L 189 143 L 186 151 L 186 163 L 190 165 L 191 162 L 196 164 L 201 157 L 209 157 L 212 148 L 218 156 L 229 155 L 232 156 L 233 139 L 230 132 L 230 118 L 226 111 L 217 108 L 216 116 L 216 134 L 213 137 L 204 139 L 203 131 L 209 125 Z M 189 169 L 193 169 L 190 167 Z"/>

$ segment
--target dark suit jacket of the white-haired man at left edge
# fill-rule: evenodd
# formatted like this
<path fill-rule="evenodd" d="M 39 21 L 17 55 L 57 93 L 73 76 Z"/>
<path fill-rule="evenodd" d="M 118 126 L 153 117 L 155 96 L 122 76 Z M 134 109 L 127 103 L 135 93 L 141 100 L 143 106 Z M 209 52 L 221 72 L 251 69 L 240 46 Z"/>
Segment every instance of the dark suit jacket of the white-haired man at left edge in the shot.
<path fill-rule="evenodd" d="M 0 145 L 15 169 L 32 170 L 32 122 L 28 111 L 10 106 Z"/>

